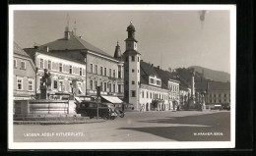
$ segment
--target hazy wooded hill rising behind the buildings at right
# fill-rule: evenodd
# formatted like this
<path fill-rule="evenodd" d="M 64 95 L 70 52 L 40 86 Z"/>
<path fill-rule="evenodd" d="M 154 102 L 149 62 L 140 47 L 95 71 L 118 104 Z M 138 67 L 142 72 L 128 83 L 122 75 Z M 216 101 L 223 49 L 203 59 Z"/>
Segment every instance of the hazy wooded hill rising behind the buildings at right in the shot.
<path fill-rule="evenodd" d="M 191 66 L 189 69 L 195 69 L 195 72 L 204 75 L 204 78 L 212 79 L 214 81 L 230 81 L 230 74 L 222 71 L 214 71 L 200 66 Z M 203 74 L 204 71 L 204 74 Z"/>

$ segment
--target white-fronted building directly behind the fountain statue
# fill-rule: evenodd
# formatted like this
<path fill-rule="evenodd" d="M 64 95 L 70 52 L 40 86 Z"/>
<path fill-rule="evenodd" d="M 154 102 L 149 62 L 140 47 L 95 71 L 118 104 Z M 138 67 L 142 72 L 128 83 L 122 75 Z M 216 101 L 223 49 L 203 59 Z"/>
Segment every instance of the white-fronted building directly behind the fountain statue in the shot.
<path fill-rule="evenodd" d="M 49 53 L 39 47 L 25 49 L 36 66 L 36 94 L 40 95 L 40 83 L 47 69 L 51 74 L 51 93 L 86 94 L 86 63 L 84 60 L 71 59 Z M 80 56 L 82 57 L 82 56 Z"/>

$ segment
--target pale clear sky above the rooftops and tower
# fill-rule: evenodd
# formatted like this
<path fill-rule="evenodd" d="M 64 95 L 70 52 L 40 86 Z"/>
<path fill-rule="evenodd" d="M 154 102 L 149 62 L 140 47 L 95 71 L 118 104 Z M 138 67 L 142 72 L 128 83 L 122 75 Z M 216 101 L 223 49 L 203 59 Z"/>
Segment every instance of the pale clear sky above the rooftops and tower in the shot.
<path fill-rule="evenodd" d="M 64 37 L 69 27 L 97 48 L 125 51 L 126 31 L 135 26 L 138 51 L 161 69 L 201 66 L 230 74 L 229 11 L 15 11 L 14 41 L 22 48 Z"/>

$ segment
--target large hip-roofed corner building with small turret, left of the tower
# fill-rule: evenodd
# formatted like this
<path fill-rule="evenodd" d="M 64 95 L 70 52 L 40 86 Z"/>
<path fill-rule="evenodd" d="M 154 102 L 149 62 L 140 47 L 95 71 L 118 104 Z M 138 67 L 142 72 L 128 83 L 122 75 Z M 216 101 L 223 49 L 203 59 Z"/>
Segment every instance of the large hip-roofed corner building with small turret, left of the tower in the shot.
<path fill-rule="evenodd" d="M 101 86 L 101 95 L 123 98 L 123 61 L 120 46 L 117 44 L 114 57 L 69 31 L 66 26 L 64 37 L 39 46 L 48 54 L 85 62 L 86 78 L 81 87 L 86 95 L 96 96 L 96 86 Z M 68 69 L 69 69 L 68 65 Z M 74 65 L 75 66 L 75 65 Z M 83 71 L 84 72 L 84 71 Z M 84 74 L 84 73 L 83 73 Z M 83 89 L 84 88 L 84 89 Z"/>

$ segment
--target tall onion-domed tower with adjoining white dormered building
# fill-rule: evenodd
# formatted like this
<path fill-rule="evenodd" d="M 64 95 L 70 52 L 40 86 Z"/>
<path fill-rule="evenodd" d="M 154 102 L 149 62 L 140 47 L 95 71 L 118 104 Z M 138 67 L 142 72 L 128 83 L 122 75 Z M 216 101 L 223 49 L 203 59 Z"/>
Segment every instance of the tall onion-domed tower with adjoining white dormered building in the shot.
<path fill-rule="evenodd" d="M 154 109 L 153 100 L 158 101 L 158 110 L 170 109 L 168 88 L 161 81 L 155 68 L 141 60 L 135 39 L 135 27 L 127 27 L 128 38 L 124 58 L 124 101 L 132 103 L 136 110 L 149 111 Z"/>

